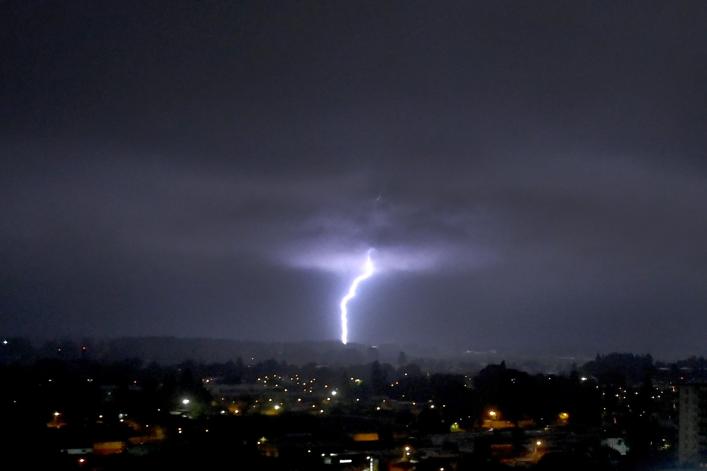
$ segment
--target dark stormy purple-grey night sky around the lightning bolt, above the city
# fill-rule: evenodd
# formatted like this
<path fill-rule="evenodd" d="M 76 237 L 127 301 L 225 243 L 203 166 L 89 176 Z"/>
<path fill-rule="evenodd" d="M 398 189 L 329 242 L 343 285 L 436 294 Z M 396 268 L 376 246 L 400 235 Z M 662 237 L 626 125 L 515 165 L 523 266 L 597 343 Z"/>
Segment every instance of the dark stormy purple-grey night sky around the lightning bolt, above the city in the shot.
<path fill-rule="evenodd" d="M 0 11 L 1 335 L 707 353 L 703 1 Z"/>

